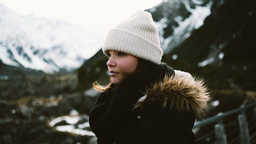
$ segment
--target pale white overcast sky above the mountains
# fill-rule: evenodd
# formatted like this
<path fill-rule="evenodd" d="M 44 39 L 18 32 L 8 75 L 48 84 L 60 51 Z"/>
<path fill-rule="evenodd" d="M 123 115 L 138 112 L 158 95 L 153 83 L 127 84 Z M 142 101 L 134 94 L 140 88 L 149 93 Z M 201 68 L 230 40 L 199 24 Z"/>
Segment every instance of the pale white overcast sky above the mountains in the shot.
<path fill-rule="evenodd" d="M 63 19 L 105 35 L 120 21 L 138 10 L 149 9 L 162 0 L 0 0 L 22 14 Z"/>

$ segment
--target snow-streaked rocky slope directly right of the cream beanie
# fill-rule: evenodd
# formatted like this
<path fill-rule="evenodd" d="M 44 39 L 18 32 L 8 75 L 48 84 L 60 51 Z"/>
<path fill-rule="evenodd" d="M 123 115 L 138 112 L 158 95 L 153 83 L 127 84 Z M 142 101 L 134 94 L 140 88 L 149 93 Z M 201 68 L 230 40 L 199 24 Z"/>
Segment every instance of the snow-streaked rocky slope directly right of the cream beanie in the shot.
<path fill-rule="evenodd" d="M 211 14 L 211 6 L 210 0 L 166 0 L 149 9 L 153 19 L 154 13 L 158 13 L 154 20 L 157 20 L 156 25 L 164 53 L 171 52 L 195 29 L 200 28 L 205 18 Z"/>

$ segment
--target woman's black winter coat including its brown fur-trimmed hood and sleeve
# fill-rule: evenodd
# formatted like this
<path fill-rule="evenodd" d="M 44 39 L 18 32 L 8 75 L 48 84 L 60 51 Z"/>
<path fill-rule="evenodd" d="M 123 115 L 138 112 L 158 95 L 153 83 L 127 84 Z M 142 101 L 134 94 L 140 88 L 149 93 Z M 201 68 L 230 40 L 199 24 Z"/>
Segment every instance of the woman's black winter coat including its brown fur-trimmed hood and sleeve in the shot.
<path fill-rule="evenodd" d="M 152 81 L 159 78 L 161 81 Z M 101 93 L 89 115 L 97 142 L 195 143 L 192 127 L 195 117 L 200 118 L 207 107 L 209 96 L 202 81 L 191 78 L 180 71 L 174 75 L 172 68 L 161 63 L 126 78 L 111 98 Z"/>

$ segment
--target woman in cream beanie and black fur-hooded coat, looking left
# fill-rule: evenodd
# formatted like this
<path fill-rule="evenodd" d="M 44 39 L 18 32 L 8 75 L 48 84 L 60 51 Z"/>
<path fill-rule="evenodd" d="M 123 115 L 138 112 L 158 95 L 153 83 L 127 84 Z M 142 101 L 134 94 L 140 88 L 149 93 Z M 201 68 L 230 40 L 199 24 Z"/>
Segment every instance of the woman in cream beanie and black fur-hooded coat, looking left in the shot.
<path fill-rule="evenodd" d="M 157 27 L 138 11 L 111 29 L 102 47 L 111 82 L 89 115 L 97 142 L 195 143 L 192 127 L 202 118 L 209 96 L 202 81 L 160 63 Z"/>

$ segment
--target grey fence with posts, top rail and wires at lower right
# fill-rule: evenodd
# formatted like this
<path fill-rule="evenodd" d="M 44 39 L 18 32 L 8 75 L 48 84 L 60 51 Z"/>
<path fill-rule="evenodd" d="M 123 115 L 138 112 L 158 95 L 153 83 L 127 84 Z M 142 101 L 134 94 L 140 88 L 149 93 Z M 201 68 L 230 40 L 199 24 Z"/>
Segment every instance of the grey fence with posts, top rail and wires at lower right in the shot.
<path fill-rule="evenodd" d="M 253 110 L 249 114 L 248 112 L 246 113 L 246 111 L 252 108 Z M 236 119 L 224 124 L 223 121 L 231 115 L 237 115 Z M 242 105 L 239 108 L 224 113 L 218 113 L 213 117 L 195 122 L 193 130 L 212 123 L 217 123 L 213 128 L 214 130 L 197 138 L 196 143 L 199 143 L 200 141 L 201 143 L 210 141 L 210 136 L 215 137 L 215 141 L 211 142 L 215 144 L 237 143 L 239 140 L 241 144 L 256 143 L 256 102 Z M 236 128 L 231 130 L 229 128 L 229 131 L 225 130 L 228 127 L 234 127 L 234 125 L 237 125 L 237 127 L 235 126 Z M 236 136 L 231 136 L 235 134 Z M 227 137 L 232 137 L 232 139 L 228 141 Z M 202 142 L 202 140 L 205 141 Z"/>

